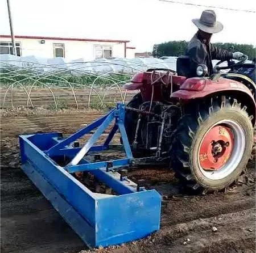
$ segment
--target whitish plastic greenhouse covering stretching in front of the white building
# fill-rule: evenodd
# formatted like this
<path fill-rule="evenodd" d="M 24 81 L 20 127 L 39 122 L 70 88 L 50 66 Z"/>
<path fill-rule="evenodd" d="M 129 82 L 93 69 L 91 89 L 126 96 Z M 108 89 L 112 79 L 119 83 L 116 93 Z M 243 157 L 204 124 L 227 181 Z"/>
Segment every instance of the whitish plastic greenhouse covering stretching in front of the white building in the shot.
<path fill-rule="evenodd" d="M 165 68 L 176 71 L 177 57 L 159 58 L 100 58 L 94 61 L 86 61 L 84 58 L 67 61 L 63 57 L 42 58 L 37 56 L 14 56 L 13 54 L 0 54 L 0 68 L 24 68 L 36 71 L 69 72 L 75 75 L 85 73 L 137 73 L 149 68 Z M 213 66 L 218 62 L 213 60 Z M 226 63 L 224 62 L 224 64 Z M 221 66 L 221 65 L 220 65 Z"/>

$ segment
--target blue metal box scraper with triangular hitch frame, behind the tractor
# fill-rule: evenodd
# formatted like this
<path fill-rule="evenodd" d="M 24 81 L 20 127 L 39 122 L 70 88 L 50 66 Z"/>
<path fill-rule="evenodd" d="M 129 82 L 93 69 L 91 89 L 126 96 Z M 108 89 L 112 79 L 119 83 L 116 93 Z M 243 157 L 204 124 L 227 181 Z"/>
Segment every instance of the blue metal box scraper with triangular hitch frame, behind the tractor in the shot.
<path fill-rule="evenodd" d="M 22 170 L 88 247 L 129 242 L 159 230 L 159 193 L 138 187 L 116 171 L 129 166 L 134 159 L 123 125 L 124 116 L 125 106 L 117 104 L 107 115 L 67 138 L 61 133 L 19 136 Z M 104 144 L 94 145 L 112 121 L 113 129 Z M 97 130 L 83 147 L 72 146 L 95 128 Z M 94 162 L 85 159 L 85 155 L 95 151 L 108 150 L 118 130 L 126 157 Z M 68 158 L 69 162 L 63 165 L 58 162 L 60 158 Z M 78 171 L 89 171 L 116 195 L 90 191 L 72 175 Z"/>

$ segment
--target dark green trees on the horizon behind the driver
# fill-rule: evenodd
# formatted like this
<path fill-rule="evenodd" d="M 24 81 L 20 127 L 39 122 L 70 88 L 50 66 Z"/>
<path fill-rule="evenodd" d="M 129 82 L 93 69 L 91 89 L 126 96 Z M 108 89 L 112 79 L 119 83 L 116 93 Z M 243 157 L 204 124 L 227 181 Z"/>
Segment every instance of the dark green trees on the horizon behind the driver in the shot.
<path fill-rule="evenodd" d="M 166 43 L 155 44 L 152 51 L 152 56 L 159 58 L 162 56 L 180 56 L 186 53 L 188 41 L 174 40 Z M 253 60 L 256 54 L 256 47 L 249 44 L 236 44 L 236 43 L 213 43 L 218 48 L 231 50 L 233 52 L 240 51 L 249 57 L 249 60 Z"/>

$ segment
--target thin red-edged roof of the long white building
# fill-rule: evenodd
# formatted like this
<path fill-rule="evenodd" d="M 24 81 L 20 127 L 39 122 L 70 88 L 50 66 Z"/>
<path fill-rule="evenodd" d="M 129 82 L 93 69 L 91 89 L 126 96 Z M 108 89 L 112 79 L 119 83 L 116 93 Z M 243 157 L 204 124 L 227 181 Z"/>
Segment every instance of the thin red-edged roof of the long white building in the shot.
<path fill-rule="evenodd" d="M 0 35 L 0 37 L 11 38 L 11 35 Z M 15 38 L 17 38 L 17 39 L 39 39 L 39 40 L 74 40 L 74 41 L 122 42 L 122 43 L 130 42 L 130 40 L 104 40 L 104 39 L 63 38 L 63 37 L 24 36 L 24 35 L 15 35 Z"/>

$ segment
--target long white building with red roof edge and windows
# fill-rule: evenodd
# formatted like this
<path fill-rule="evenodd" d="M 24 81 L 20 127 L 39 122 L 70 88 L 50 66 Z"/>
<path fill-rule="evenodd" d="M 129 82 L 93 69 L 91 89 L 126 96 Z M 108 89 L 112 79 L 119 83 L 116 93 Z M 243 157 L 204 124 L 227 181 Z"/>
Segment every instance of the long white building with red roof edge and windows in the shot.
<path fill-rule="evenodd" d="M 67 60 L 84 58 L 134 58 L 135 48 L 129 40 L 77 39 L 44 36 L 15 36 L 16 55 L 44 58 L 64 57 Z M 10 35 L 0 35 L 0 54 L 13 54 Z"/>

